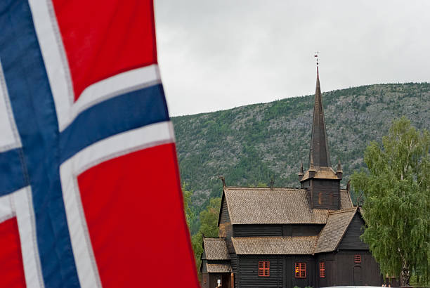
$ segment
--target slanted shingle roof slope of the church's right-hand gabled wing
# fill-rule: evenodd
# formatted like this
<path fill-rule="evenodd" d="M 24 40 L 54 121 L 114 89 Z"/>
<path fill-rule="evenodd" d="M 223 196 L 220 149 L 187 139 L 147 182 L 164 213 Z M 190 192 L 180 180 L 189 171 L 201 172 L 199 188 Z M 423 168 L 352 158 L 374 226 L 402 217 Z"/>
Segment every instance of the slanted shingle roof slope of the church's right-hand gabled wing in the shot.
<path fill-rule="evenodd" d="M 327 223 L 318 237 L 315 253 L 330 252 L 337 249 L 353 216 L 356 215 L 356 211 L 356 208 L 330 211 Z"/>

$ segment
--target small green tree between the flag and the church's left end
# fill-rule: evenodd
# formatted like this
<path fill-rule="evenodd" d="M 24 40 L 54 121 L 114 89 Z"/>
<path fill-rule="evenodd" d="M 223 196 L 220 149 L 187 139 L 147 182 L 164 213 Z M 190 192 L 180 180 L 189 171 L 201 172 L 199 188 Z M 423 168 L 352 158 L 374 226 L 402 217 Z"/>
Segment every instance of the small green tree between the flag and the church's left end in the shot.
<path fill-rule="evenodd" d="M 200 255 L 203 253 L 202 241 L 204 237 L 218 237 L 218 216 L 221 198 L 212 198 L 206 209 L 200 212 L 200 229 L 191 237 L 197 269 L 200 267 Z"/>

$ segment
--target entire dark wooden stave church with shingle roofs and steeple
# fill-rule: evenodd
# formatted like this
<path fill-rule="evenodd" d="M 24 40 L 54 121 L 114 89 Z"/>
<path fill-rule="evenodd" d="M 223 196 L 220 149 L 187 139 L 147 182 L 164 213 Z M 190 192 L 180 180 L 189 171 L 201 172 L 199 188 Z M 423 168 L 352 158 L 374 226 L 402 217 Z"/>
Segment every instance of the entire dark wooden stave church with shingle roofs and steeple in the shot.
<path fill-rule="evenodd" d="M 381 286 L 379 264 L 360 241 L 365 222 L 332 169 L 317 66 L 309 169 L 301 188 L 227 187 L 219 237 L 203 239 L 201 287 Z"/>

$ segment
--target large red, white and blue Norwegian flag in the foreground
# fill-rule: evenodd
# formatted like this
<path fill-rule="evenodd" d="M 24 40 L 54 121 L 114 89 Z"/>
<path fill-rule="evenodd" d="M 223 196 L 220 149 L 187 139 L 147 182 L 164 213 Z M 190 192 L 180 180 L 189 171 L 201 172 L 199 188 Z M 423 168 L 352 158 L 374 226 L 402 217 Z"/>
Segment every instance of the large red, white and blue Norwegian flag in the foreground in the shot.
<path fill-rule="evenodd" d="M 152 1 L 1 0 L 0 27 L 0 287 L 198 287 Z"/>

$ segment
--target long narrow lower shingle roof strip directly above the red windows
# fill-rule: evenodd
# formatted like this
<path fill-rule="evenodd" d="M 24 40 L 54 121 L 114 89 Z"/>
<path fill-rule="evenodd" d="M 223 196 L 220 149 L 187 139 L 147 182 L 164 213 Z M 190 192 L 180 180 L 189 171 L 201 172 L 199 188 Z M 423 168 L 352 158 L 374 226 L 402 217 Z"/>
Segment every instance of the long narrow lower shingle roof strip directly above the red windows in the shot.
<path fill-rule="evenodd" d="M 318 236 L 232 237 L 238 255 L 313 254 Z"/>

